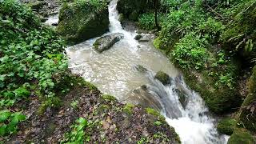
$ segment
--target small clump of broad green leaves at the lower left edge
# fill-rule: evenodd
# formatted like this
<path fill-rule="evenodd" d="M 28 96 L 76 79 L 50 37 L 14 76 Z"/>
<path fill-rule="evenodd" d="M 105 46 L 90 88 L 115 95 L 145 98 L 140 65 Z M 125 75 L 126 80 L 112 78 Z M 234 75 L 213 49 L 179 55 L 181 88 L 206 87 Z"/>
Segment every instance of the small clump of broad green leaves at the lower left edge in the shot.
<path fill-rule="evenodd" d="M 0 111 L 0 136 L 15 134 L 18 130 L 18 123 L 26 120 L 26 116 L 21 112 L 10 112 L 10 110 Z"/>

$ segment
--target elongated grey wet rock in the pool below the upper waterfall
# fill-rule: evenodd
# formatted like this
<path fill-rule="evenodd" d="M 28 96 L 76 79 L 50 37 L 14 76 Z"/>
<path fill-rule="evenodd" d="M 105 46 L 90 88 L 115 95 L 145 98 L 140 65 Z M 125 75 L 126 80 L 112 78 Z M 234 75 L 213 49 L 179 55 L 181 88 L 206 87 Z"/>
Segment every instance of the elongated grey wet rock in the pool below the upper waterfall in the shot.
<path fill-rule="evenodd" d="M 94 50 L 97 50 L 99 53 L 102 53 L 105 50 L 109 50 L 116 42 L 120 41 L 124 37 L 121 33 L 109 34 L 98 38 L 94 42 Z"/>

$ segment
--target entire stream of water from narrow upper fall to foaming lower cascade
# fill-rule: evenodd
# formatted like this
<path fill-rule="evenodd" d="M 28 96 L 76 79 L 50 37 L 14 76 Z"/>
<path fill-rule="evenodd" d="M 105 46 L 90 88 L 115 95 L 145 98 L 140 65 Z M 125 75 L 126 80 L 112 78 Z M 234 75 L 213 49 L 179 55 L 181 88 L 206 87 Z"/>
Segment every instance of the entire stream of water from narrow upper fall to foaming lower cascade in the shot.
<path fill-rule="evenodd" d="M 134 31 L 122 29 L 116 10 L 117 1 L 113 0 L 109 5 L 110 32 L 107 34 L 122 33 L 124 38 L 102 54 L 92 48 L 96 38 L 67 48 L 73 73 L 82 75 L 103 93 L 113 94 L 121 102 L 160 110 L 182 143 L 226 143 L 227 138 L 217 133 L 215 120 L 202 98 L 186 86 L 168 58 L 151 42 L 134 40 Z M 146 70 L 138 70 L 138 67 Z M 164 86 L 154 78 L 159 70 L 170 75 L 170 85 Z M 180 101 L 181 95 L 185 99 L 183 102 Z"/>

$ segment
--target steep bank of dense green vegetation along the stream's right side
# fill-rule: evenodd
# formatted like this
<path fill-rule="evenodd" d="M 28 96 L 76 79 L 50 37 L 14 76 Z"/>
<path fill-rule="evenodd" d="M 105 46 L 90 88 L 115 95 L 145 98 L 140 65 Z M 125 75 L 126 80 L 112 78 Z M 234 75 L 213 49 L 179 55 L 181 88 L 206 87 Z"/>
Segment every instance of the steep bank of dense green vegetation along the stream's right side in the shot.
<path fill-rule="evenodd" d="M 218 126 L 218 130 L 225 134 L 232 134 L 234 130 L 230 143 L 254 143 L 250 134 L 255 134 L 255 73 L 252 67 L 256 58 L 256 1 L 158 2 L 161 30 L 156 33 L 158 38 L 154 45 L 182 70 L 186 82 L 202 95 L 211 111 L 223 114 L 237 110 L 237 122 L 227 118 Z M 118 10 L 126 18 L 138 22 L 141 29 L 157 31 L 153 3 L 147 1 L 149 7 L 138 10 L 141 12 L 138 18 L 130 18 L 132 8 L 126 5 L 119 6 L 123 9 Z M 134 9 L 138 8 L 134 4 Z M 242 83 L 249 78 L 247 91 L 247 86 Z"/>

